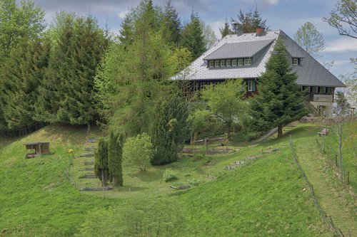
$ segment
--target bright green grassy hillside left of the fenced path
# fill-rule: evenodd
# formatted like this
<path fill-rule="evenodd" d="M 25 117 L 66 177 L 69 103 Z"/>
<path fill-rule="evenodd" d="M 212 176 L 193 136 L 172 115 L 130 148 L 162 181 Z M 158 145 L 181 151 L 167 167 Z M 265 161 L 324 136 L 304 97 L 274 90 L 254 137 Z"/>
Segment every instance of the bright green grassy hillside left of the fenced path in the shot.
<path fill-rule="evenodd" d="M 20 139 L 2 138 L 1 236 L 332 236 L 288 148 L 288 135 L 314 137 L 316 128 L 291 129 L 281 139 L 230 147 L 231 154 L 182 155 L 144 173 L 124 166 L 124 186 L 106 192 L 79 191 L 99 185 L 97 179 L 79 179 L 90 159 L 79 157 L 88 146 L 86 128 L 49 125 Z M 51 142 L 53 154 L 24 159 L 23 144 L 34 141 Z M 224 169 L 270 147 L 276 152 Z M 167 167 L 176 181 L 162 181 Z M 197 187 L 169 188 L 192 179 Z"/>

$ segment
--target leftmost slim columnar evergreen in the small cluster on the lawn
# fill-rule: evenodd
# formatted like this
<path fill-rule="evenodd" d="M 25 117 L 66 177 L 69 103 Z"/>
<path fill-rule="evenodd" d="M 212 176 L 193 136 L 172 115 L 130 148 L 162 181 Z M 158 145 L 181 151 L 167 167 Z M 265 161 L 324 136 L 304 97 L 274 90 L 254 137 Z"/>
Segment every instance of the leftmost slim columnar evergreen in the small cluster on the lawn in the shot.
<path fill-rule="evenodd" d="M 94 152 L 94 174 L 106 186 L 106 181 L 109 180 L 108 142 L 104 138 L 99 139 L 98 149 Z"/>

